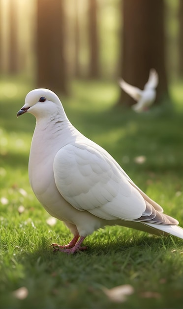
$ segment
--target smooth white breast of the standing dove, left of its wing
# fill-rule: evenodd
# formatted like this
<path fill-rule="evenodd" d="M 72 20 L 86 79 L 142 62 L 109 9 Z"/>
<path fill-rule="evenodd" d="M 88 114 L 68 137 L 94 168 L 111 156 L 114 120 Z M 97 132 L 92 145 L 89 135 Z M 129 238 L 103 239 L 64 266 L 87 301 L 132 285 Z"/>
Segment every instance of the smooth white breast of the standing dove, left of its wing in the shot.
<path fill-rule="evenodd" d="M 58 150 L 66 143 L 66 136 L 61 134 L 63 128 L 43 125 L 38 123 L 32 138 L 29 158 L 29 179 L 30 185 L 36 197 L 46 210 L 53 216 L 65 219 L 64 206 L 71 207 L 61 196 L 54 180 L 53 162 Z M 72 132 L 70 139 L 72 137 Z M 62 205 L 62 213 L 61 213 Z M 73 207 L 72 207 L 73 208 Z"/>

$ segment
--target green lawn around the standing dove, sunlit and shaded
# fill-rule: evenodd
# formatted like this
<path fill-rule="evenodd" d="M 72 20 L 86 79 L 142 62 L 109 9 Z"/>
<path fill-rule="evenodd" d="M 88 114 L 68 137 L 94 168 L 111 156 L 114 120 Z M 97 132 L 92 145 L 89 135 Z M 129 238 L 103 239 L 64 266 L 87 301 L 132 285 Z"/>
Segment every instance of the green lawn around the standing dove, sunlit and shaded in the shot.
<path fill-rule="evenodd" d="M 4 91 L 8 82 L 0 83 L 0 308 L 182 308 L 181 239 L 106 227 L 86 238 L 85 252 L 52 252 L 52 242 L 67 243 L 71 234 L 60 221 L 53 227 L 47 224 L 49 215 L 30 189 L 28 157 L 35 119 L 17 119 L 16 113 L 32 87 L 12 79 L 17 93 L 10 98 Z M 115 107 L 118 91 L 115 83 L 77 81 L 61 101 L 71 122 L 112 154 L 183 226 L 181 84 L 171 88 L 174 112 L 166 111 L 166 104 L 140 115 Z M 143 164 L 134 160 L 140 155 L 146 158 Z M 25 208 L 21 214 L 20 205 Z M 110 301 L 103 287 L 122 284 L 132 285 L 134 293 L 123 304 Z M 22 300 L 14 294 L 20 287 L 28 290 Z"/>

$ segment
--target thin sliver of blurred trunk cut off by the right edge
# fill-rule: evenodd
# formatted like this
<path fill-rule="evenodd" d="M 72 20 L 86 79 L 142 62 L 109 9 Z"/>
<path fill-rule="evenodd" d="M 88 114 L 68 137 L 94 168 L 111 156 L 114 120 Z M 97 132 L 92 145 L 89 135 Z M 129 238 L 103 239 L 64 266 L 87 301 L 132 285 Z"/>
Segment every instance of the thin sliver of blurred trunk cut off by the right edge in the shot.
<path fill-rule="evenodd" d="M 183 0 L 179 0 L 179 77 L 183 78 Z"/>

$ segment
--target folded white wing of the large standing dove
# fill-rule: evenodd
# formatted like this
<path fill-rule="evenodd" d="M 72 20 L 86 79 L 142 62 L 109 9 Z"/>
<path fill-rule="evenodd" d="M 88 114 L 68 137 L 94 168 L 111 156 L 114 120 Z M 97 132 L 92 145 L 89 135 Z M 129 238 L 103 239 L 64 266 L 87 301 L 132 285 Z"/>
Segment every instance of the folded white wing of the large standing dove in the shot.
<path fill-rule="evenodd" d="M 95 145 L 95 144 L 94 144 Z M 103 219 L 133 220 L 142 216 L 142 195 L 102 148 L 66 145 L 54 159 L 54 177 L 61 195 L 78 210 Z"/>

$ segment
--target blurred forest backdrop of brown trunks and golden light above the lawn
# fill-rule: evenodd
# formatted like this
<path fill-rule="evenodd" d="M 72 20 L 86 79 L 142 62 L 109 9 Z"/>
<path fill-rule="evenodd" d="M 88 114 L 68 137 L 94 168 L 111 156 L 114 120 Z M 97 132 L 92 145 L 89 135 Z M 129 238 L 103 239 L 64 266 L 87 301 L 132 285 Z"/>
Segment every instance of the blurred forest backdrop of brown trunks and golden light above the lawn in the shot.
<path fill-rule="evenodd" d="M 151 68 L 158 103 L 183 77 L 181 0 L 0 0 L 1 78 L 69 95 L 73 79 L 123 77 L 142 88 Z M 117 103 L 134 101 L 121 91 Z"/>

